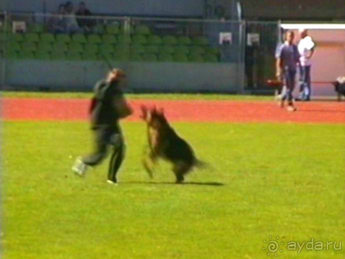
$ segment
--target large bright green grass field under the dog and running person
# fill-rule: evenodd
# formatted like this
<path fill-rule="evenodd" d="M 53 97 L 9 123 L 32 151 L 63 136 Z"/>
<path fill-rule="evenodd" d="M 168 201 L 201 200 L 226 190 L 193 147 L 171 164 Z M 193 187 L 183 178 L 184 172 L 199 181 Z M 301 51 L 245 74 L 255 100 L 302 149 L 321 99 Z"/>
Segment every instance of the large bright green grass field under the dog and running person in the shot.
<path fill-rule="evenodd" d="M 213 168 L 174 185 L 167 164 L 149 183 L 142 123 L 123 124 L 117 187 L 108 160 L 86 178 L 73 159 L 91 147 L 86 123 L 5 122 L 2 247 L 8 259 L 344 258 L 344 126 L 174 123 Z M 73 159 L 71 157 L 73 157 Z M 212 185 L 219 183 L 223 185 Z M 287 251 L 288 241 L 343 241 L 343 251 Z"/>

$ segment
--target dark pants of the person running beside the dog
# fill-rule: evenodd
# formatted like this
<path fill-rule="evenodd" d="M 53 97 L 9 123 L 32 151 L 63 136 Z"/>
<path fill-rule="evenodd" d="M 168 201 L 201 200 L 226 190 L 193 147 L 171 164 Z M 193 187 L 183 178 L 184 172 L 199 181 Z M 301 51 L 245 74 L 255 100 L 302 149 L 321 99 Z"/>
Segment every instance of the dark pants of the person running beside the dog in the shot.
<path fill-rule="evenodd" d="M 113 153 L 110 158 L 108 180 L 116 182 L 116 174 L 124 159 L 125 145 L 121 130 L 109 127 L 94 129 L 95 151 L 82 159 L 89 166 L 96 166 L 106 157 L 108 147 L 112 146 Z"/>

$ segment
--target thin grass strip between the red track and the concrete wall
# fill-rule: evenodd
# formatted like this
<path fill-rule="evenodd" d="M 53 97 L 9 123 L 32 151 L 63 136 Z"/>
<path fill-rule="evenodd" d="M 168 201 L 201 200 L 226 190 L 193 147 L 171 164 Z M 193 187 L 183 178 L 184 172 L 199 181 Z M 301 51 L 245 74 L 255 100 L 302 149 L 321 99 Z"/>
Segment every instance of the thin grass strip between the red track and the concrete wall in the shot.
<path fill-rule="evenodd" d="M 91 92 L 1 92 L 8 98 L 91 98 Z M 260 101 L 272 100 L 272 96 L 235 95 L 235 94 L 126 94 L 128 99 L 166 99 L 166 100 L 234 100 Z"/>

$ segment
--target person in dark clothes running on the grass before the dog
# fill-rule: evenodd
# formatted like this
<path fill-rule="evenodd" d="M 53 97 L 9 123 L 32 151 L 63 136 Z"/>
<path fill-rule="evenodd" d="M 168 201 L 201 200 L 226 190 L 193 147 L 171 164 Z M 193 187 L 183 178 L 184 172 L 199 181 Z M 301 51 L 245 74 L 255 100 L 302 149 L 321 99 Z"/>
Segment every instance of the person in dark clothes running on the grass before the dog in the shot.
<path fill-rule="evenodd" d="M 111 70 L 105 80 L 96 83 L 92 99 L 91 129 L 95 137 L 95 151 L 75 161 L 72 170 L 84 176 L 88 166 L 98 165 L 106 156 L 108 146 L 113 147 L 110 159 L 108 180 L 117 182 L 116 173 L 124 159 L 125 146 L 118 121 L 132 113 L 126 102 L 122 89 L 125 87 L 126 75 L 121 69 Z"/>

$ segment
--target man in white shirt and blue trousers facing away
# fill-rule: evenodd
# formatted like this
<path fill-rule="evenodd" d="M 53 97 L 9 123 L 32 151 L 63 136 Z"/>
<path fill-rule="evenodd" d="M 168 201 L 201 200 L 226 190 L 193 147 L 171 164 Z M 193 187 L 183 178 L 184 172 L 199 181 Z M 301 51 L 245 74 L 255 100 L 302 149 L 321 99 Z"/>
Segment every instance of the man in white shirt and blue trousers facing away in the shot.
<path fill-rule="evenodd" d="M 301 40 L 298 44 L 298 51 L 300 52 L 301 66 L 300 66 L 300 93 L 302 101 L 310 101 L 311 97 L 311 58 L 314 54 L 315 43 L 313 39 L 308 36 L 308 30 L 300 29 Z"/>

